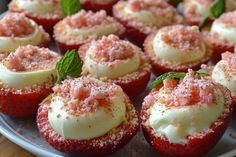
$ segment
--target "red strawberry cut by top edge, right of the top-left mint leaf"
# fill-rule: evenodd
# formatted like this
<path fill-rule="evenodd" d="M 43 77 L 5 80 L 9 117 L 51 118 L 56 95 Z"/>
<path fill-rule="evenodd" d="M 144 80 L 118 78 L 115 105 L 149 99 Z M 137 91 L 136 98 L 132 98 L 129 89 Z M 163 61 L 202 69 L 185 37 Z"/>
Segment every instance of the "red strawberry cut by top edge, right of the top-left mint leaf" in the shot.
<path fill-rule="evenodd" d="M 94 12 L 105 10 L 109 15 L 112 14 L 112 6 L 118 0 L 81 0 L 81 7 L 85 10 L 92 10 Z"/>

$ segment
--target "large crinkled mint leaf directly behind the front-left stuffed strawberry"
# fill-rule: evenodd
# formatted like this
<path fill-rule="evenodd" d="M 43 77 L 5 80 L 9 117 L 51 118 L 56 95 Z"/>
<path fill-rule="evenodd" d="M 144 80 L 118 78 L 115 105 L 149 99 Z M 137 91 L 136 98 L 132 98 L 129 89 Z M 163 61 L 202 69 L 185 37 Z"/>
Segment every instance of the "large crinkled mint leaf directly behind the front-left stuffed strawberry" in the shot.
<path fill-rule="evenodd" d="M 82 65 L 77 51 L 67 51 L 56 65 L 57 82 L 61 83 L 67 76 L 79 77 L 82 72 Z"/>

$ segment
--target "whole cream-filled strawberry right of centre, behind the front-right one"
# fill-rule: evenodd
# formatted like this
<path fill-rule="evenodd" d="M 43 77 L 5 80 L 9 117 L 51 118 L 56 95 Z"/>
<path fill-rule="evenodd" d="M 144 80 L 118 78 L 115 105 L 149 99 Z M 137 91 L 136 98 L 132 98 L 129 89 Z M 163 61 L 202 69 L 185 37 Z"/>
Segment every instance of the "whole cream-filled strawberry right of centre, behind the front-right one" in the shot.
<path fill-rule="evenodd" d="M 198 69 L 212 54 L 198 27 L 184 25 L 166 26 L 152 33 L 144 49 L 157 74 Z"/>

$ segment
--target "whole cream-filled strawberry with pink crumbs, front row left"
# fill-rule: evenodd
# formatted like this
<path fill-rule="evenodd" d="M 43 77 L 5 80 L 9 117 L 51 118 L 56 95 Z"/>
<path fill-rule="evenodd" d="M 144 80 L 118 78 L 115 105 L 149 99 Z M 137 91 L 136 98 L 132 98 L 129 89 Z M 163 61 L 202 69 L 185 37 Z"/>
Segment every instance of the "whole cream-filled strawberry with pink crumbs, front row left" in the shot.
<path fill-rule="evenodd" d="M 120 86 L 80 77 L 53 91 L 40 104 L 37 124 L 45 140 L 61 152 L 110 154 L 138 131 L 138 115 Z"/>

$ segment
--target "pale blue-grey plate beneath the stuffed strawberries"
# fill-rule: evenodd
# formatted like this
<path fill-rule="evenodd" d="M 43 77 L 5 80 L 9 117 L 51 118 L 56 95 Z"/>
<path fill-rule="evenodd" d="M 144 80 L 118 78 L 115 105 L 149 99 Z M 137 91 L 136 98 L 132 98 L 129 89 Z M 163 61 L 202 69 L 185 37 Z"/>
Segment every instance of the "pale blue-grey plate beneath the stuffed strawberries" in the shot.
<path fill-rule="evenodd" d="M 0 15 L 0 18 L 4 14 Z M 51 45 L 51 49 L 55 50 L 55 44 Z M 152 76 L 152 79 L 154 76 Z M 150 91 L 149 86 L 147 89 L 138 97 L 134 98 L 132 102 L 135 107 L 140 111 L 141 103 L 143 98 Z M 232 120 L 228 129 L 226 130 L 224 136 L 221 138 L 219 143 L 212 149 L 206 157 L 224 156 L 231 157 L 236 155 L 236 114 L 234 113 Z M 5 116 L 0 113 L 0 134 L 4 135 L 6 138 L 12 142 L 18 144 L 24 149 L 32 152 L 33 154 L 40 157 L 85 157 L 80 154 L 63 154 L 56 151 L 45 140 L 39 135 L 37 130 L 36 120 L 33 119 L 15 119 Z M 235 150 L 233 150 L 235 148 Z M 160 156 L 156 153 L 146 142 L 142 134 L 142 130 L 127 144 L 124 148 L 116 153 L 110 155 L 110 157 L 157 157 Z"/>

